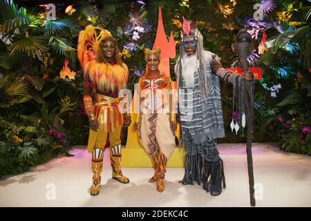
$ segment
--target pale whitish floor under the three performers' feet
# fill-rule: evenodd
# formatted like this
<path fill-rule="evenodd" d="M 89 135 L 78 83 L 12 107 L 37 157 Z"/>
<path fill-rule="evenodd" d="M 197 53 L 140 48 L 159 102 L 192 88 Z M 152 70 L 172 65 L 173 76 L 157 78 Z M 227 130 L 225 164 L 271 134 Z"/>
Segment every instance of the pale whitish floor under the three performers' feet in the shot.
<path fill-rule="evenodd" d="M 131 182 L 121 184 L 111 179 L 108 153 L 100 195 L 93 197 L 88 191 L 91 156 L 77 147 L 70 152 L 74 157 L 59 157 L 0 180 L 0 206 L 249 206 L 245 144 L 219 144 L 218 150 L 227 189 L 217 197 L 201 186 L 179 184 L 181 168 L 167 169 L 163 193 L 148 182 L 151 168 L 124 168 Z M 253 144 L 253 161 L 256 206 L 311 206 L 311 157 L 284 153 L 274 144 Z"/>

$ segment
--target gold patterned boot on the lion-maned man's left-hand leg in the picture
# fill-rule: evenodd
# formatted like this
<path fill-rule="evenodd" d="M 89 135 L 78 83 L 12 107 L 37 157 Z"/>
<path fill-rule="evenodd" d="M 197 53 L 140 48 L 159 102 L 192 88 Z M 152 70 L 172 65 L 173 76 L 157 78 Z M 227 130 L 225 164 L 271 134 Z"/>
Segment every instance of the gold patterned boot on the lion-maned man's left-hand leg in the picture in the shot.
<path fill-rule="evenodd" d="M 100 181 L 102 173 L 104 150 L 102 148 L 94 148 L 92 156 L 92 172 L 93 172 L 93 182 L 90 188 L 91 195 L 97 195 L 100 193 Z"/>

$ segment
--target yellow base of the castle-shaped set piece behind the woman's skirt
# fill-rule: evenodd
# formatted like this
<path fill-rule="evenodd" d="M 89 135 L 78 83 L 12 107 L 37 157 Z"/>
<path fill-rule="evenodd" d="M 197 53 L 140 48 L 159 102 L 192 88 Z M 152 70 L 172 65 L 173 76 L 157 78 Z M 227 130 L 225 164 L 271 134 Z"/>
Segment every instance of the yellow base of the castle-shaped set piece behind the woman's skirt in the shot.
<path fill-rule="evenodd" d="M 128 128 L 126 146 L 122 148 L 122 163 L 123 167 L 152 167 L 151 159 L 144 151 L 144 147 L 140 144 L 138 133 L 134 132 L 133 125 L 137 114 L 132 114 L 132 123 Z M 178 128 L 179 131 L 179 128 Z M 167 167 L 182 167 L 183 152 L 176 147 L 167 162 Z"/>

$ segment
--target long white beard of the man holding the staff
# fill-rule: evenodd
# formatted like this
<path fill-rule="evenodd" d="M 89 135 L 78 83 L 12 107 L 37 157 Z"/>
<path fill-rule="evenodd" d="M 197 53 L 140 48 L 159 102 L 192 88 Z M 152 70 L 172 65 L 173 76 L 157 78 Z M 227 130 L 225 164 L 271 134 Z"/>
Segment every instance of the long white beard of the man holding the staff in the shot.
<path fill-rule="evenodd" d="M 192 55 L 182 57 L 182 79 L 185 79 L 186 88 L 194 87 L 194 72 L 197 70 L 197 56 Z"/>

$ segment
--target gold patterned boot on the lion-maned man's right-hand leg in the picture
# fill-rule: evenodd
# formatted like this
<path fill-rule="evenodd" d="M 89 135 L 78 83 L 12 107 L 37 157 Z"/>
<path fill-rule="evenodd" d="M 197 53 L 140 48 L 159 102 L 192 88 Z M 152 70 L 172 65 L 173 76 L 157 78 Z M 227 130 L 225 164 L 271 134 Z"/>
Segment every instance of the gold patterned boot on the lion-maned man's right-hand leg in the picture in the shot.
<path fill-rule="evenodd" d="M 110 148 L 111 167 L 113 169 L 113 179 L 122 182 L 123 184 L 129 183 L 129 178 L 125 177 L 121 171 L 121 144 L 117 144 Z"/>

